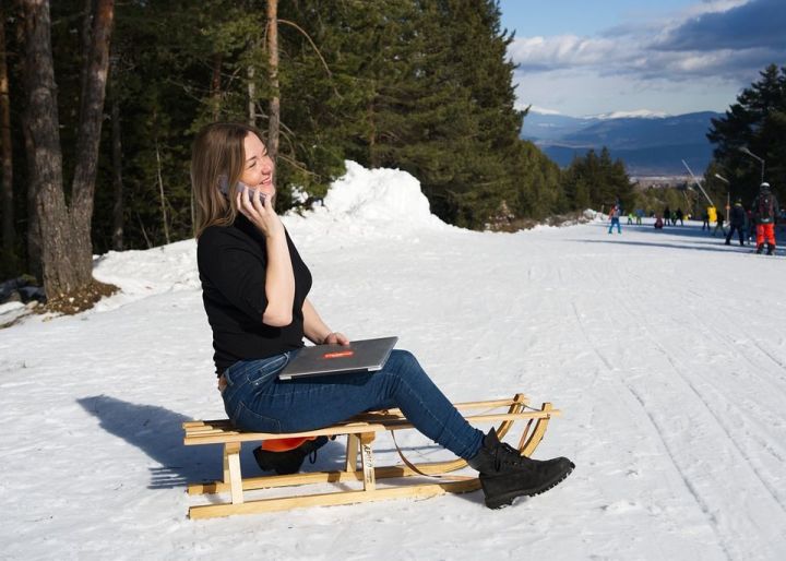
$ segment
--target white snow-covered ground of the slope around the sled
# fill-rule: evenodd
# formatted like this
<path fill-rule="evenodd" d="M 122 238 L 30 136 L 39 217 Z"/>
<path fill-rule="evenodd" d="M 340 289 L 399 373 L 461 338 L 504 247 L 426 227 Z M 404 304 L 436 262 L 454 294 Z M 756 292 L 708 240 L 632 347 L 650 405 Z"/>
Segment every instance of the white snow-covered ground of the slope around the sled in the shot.
<path fill-rule="evenodd" d="M 461 230 L 406 174 L 355 165 L 285 223 L 333 329 L 398 335 L 454 401 L 553 402 L 536 457 L 575 472 L 501 511 L 476 492 L 188 520 L 186 482 L 221 452 L 182 446 L 180 423 L 224 417 L 189 240 L 103 255 L 121 294 L 0 330 L 0 558 L 786 559 L 783 256 L 699 223 Z"/>

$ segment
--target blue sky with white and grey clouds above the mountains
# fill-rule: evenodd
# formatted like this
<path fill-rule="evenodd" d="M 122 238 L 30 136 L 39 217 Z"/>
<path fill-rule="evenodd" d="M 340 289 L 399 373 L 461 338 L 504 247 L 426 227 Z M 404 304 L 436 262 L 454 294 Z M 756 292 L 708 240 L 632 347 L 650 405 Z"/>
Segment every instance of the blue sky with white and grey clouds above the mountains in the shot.
<path fill-rule="evenodd" d="M 786 0 L 501 0 L 519 105 L 585 116 L 723 111 L 786 65 Z"/>

